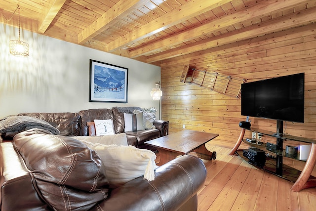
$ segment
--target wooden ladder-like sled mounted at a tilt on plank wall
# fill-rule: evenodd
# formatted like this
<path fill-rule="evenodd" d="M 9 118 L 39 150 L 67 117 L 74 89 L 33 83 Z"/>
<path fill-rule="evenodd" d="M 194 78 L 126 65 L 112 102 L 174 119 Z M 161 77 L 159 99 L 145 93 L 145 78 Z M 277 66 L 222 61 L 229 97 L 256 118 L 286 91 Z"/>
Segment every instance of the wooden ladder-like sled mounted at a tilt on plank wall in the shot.
<path fill-rule="evenodd" d="M 214 90 L 240 98 L 241 84 L 246 83 L 246 79 L 225 75 L 213 71 L 197 70 L 185 65 L 180 82 L 197 84 L 201 87 Z"/>

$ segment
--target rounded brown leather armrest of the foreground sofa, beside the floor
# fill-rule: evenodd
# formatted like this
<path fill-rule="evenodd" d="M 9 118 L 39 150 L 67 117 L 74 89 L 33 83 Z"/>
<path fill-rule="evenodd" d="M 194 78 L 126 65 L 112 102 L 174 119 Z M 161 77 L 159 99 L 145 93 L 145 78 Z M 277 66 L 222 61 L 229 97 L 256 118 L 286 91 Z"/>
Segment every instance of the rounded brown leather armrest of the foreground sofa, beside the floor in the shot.
<path fill-rule="evenodd" d="M 197 191 L 205 178 L 203 162 L 196 156 L 184 155 L 156 169 L 154 181 L 139 177 L 127 182 L 112 190 L 110 197 L 92 210 L 194 211 Z"/>

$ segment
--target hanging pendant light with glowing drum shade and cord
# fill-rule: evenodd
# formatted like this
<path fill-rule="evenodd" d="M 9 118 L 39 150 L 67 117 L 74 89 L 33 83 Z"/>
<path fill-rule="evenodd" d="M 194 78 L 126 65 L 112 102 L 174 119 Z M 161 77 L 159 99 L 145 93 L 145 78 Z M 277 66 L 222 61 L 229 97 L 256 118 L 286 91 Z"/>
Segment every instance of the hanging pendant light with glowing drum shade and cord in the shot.
<path fill-rule="evenodd" d="M 29 44 L 27 42 L 20 41 L 20 7 L 19 5 L 17 9 L 19 9 L 19 40 L 11 40 L 9 42 L 10 53 L 14 56 L 27 57 L 29 56 Z M 15 11 L 13 12 L 13 15 Z"/>

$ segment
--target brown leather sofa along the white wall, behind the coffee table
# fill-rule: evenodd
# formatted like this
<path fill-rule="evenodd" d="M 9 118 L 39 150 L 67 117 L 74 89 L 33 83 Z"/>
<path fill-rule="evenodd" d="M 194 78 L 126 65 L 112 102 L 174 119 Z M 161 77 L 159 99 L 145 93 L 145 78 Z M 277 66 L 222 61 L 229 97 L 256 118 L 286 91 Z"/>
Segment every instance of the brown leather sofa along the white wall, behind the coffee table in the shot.
<path fill-rule="evenodd" d="M 140 107 L 113 107 L 112 109 L 87 109 L 78 113 L 20 113 L 20 116 L 39 118 L 56 127 L 64 136 L 87 136 L 89 135 L 87 123 L 93 120 L 113 120 L 115 133 L 124 131 L 123 113 L 131 114 L 134 110 L 141 110 Z M 168 121 L 155 120 L 156 129 L 145 129 L 125 132 L 128 145 L 138 148 L 149 148 L 144 145 L 145 141 L 168 135 Z"/>

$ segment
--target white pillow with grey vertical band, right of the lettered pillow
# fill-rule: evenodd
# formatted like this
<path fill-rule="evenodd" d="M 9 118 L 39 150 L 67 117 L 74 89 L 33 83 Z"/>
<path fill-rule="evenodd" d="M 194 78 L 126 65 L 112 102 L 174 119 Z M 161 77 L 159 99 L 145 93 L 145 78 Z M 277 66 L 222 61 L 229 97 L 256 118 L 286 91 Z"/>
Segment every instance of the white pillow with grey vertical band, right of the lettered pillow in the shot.
<path fill-rule="evenodd" d="M 124 131 L 144 130 L 143 113 L 125 114 L 124 113 Z"/>

